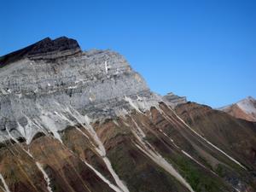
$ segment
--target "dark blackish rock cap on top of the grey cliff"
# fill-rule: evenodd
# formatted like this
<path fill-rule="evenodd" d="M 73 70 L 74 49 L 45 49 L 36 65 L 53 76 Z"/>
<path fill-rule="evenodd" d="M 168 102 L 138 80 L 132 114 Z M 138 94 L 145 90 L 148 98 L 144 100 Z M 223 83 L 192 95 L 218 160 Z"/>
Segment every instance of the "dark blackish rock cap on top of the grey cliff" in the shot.
<path fill-rule="evenodd" d="M 24 58 L 39 58 L 44 59 L 42 55 L 55 54 L 56 52 L 70 50 L 70 53 L 81 52 L 80 46 L 73 38 L 61 37 L 55 38 L 44 38 L 35 44 L 29 45 L 26 48 L 17 50 L 8 55 L 0 57 L 0 67 L 7 65 L 10 62 L 19 61 Z M 41 55 L 38 57 L 38 55 Z M 53 58 L 45 57 L 45 59 Z"/>

